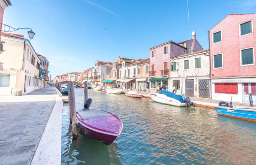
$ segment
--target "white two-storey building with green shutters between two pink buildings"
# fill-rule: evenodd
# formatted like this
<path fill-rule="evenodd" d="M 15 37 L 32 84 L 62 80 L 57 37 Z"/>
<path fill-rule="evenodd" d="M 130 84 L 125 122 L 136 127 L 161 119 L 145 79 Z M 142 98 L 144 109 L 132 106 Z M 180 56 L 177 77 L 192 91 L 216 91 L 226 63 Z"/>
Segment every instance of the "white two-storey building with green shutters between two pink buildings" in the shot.
<path fill-rule="evenodd" d="M 209 50 L 171 58 L 171 78 L 169 78 L 168 90 L 172 92 L 174 85 L 175 94 L 210 98 L 209 58 Z"/>

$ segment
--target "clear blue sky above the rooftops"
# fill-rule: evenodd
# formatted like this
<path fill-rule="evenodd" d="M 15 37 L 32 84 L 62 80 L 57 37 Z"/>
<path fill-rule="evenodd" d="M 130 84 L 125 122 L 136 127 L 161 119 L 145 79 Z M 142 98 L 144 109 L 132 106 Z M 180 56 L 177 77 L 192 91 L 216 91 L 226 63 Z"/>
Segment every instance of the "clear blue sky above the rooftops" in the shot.
<path fill-rule="evenodd" d="M 148 58 L 149 48 L 188 40 L 187 0 L 11 0 L 3 24 L 28 27 L 54 78 L 96 60 Z M 208 49 L 208 31 L 230 14 L 255 13 L 256 0 L 188 0 L 192 31 Z M 13 32 L 14 33 L 14 32 Z M 28 38 L 26 30 L 15 31 Z"/>

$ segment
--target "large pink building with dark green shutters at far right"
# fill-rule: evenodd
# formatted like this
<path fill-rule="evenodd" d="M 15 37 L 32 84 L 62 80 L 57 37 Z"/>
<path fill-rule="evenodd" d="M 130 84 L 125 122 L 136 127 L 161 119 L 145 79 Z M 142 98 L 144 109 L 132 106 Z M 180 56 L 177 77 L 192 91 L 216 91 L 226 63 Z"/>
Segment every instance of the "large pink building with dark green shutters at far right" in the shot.
<path fill-rule="evenodd" d="M 209 31 L 212 99 L 256 102 L 256 14 L 229 14 Z"/>

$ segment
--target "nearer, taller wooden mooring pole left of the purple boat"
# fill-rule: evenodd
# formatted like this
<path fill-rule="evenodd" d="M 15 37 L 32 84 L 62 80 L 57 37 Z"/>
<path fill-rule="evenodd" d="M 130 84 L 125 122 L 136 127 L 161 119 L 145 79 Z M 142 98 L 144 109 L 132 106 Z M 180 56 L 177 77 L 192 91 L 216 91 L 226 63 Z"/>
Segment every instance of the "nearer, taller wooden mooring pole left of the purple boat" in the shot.
<path fill-rule="evenodd" d="M 77 138 L 77 130 L 76 130 L 76 100 L 75 100 L 75 88 L 74 83 L 68 83 L 68 93 L 69 93 L 69 113 L 71 113 L 71 121 L 72 121 L 72 136 L 73 138 Z"/>

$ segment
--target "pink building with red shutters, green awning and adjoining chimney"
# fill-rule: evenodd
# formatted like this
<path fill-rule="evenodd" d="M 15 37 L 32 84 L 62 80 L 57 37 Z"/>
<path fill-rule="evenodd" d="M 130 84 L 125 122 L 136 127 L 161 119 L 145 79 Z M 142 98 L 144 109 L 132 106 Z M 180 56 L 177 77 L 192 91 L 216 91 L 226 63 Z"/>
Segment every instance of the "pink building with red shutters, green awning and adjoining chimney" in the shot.
<path fill-rule="evenodd" d="M 149 92 L 156 92 L 157 85 L 170 85 L 170 68 L 172 57 L 201 51 L 203 48 L 196 39 L 196 32 L 192 32 L 192 39 L 175 43 L 173 41 L 149 49 Z M 169 89 L 167 89 L 169 90 Z"/>

